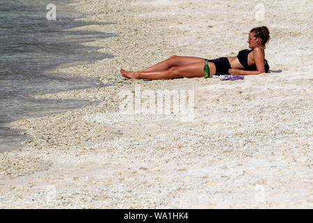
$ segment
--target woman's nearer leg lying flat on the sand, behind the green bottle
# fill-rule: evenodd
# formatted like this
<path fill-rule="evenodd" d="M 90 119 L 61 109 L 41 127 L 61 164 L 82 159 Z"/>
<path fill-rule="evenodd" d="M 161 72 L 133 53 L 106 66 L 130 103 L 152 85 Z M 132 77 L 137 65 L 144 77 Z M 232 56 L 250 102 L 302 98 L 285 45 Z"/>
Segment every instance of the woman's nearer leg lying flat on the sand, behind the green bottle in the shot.
<path fill-rule="evenodd" d="M 210 74 L 215 75 L 216 68 L 214 63 L 209 62 Z M 120 70 L 123 77 L 129 79 L 173 79 L 178 77 L 204 77 L 204 61 L 191 63 L 184 66 L 175 66 L 168 70 L 152 72 L 131 72 Z"/>

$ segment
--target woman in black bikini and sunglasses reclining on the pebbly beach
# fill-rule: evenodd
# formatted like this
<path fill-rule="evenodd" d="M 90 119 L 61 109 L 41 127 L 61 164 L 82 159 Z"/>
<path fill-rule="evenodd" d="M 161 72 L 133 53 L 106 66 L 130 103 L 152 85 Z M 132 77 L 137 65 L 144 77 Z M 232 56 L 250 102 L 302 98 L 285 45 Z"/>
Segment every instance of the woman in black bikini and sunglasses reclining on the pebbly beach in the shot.
<path fill-rule="evenodd" d="M 265 45 L 271 37 L 266 26 L 251 29 L 249 49 L 241 50 L 237 56 L 220 57 L 209 61 L 212 75 L 259 75 L 268 72 L 269 66 L 264 59 Z M 129 79 L 173 79 L 178 77 L 204 77 L 204 60 L 193 56 L 170 56 L 156 65 L 132 72 L 120 69 L 123 77 Z"/>

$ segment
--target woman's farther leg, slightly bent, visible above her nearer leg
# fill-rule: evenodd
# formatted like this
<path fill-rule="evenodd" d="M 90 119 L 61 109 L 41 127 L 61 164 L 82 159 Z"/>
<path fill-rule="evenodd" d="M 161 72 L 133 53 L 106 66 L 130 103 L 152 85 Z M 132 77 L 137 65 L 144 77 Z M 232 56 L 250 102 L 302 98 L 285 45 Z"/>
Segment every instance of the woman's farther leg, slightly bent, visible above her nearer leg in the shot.
<path fill-rule="evenodd" d="M 204 61 L 203 58 L 194 57 L 194 56 L 170 56 L 169 59 L 157 63 L 156 65 L 146 68 L 144 70 L 139 70 L 138 72 L 152 72 L 160 70 L 168 70 L 172 67 L 184 66 L 190 63 L 198 63 Z"/>

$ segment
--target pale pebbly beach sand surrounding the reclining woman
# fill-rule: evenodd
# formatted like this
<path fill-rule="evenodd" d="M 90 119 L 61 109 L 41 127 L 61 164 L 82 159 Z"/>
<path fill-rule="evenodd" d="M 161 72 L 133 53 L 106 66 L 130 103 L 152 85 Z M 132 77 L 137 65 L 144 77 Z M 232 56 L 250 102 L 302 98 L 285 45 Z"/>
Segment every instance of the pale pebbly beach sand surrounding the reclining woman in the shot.
<path fill-rule="evenodd" d="M 73 7 L 93 15 L 83 20 L 109 22 L 75 30 L 117 33 L 84 43 L 115 57 L 57 71 L 110 86 L 34 95 L 90 105 L 10 124 L 33 139 L 0 154 L 0 208 L 313 207 L 312 1 L 79 0 Z M 236 56 L 262 25 L 272 38 L 269 73 L 234 82 L 120 75 L 172 55 Z M 170 114 L 145 112 L 147 95 L 166 90 L 191 102 L 186 113 L 175 99 Z M 123 112 L 127 94 L 135 109 Z"/>

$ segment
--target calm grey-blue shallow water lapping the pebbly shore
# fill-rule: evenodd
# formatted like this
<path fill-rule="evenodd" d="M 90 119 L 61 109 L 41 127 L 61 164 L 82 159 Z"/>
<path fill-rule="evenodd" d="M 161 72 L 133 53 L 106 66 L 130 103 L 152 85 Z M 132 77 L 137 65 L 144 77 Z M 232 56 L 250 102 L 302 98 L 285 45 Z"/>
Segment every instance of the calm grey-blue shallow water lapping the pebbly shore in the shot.
<path fill-rule="evenodd" d="M 56 20 L 47 20 L 46 6 L 54 3 Z M 95 79 L 71 79 L 49 70 L 77 62 L 112 58 L 95 52 L 84 42 L 110 38 L 115 33 L 67 31 L 87 24 L 70 1 L 0 1 L 0 153 L 17 148 L 25 137 L 6 128 L 6 123 L 30 116 L 45 116 L 74 109 L 81 100 L 35 100 L 31 95 L 103 86 Z M 102 23 L 103 25 L 107 23 Z"/>

